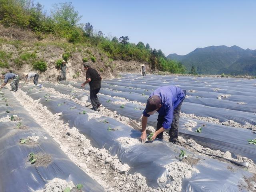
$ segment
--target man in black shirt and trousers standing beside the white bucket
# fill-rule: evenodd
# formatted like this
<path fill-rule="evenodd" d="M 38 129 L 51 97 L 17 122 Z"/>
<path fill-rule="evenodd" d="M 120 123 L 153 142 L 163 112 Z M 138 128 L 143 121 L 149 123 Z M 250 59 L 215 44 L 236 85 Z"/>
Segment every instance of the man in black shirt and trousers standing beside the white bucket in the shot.
<path fill-rule="evenodd" d="M 84 64 L 84 70 L 86 70 L 86 81 L 81 84 L 81 87 L 84 87 L 86 83 L 89 83 L 92 110 L 97 111 L 98 108 L 102 106 L 97 96 L 101 88 L 102 78 L 95 69 L 91 68 L 91 65 L 88 62 Z"/>

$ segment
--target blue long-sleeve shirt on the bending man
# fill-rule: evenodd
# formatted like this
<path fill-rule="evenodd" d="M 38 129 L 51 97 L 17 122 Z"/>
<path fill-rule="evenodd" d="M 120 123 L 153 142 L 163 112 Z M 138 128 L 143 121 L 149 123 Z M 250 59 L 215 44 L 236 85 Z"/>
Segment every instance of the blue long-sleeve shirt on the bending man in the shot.
<path fill-rule="evenodd" d="M 150 96 L 157 95 L 161 99 L 162 107 L 157 111 L 160 116 L 164 116 L 164 123 L 162 127 L 164 129 L 170 128 L 173 119 L 174 109 L 185 98 L 185 93 L 182 89 L 176 86 L 163 86 L 154 90 Z M 150 115 L 143 111 L 143 115 L 149 117 Z"/>

